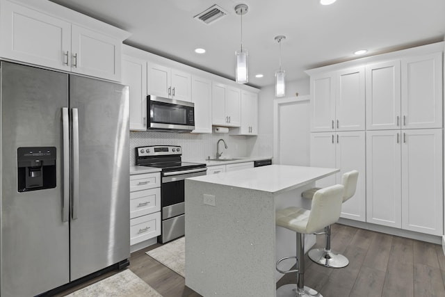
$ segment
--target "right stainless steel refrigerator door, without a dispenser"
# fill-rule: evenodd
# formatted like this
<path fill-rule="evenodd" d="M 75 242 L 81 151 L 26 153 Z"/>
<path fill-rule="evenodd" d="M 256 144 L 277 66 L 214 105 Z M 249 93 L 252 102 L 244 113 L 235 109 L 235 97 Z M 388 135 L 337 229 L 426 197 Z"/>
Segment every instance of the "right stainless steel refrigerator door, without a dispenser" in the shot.
<path fill-rule="evenodd" d="M 70 76 L 71 280 L 130 255 L 128 92 Z"/>

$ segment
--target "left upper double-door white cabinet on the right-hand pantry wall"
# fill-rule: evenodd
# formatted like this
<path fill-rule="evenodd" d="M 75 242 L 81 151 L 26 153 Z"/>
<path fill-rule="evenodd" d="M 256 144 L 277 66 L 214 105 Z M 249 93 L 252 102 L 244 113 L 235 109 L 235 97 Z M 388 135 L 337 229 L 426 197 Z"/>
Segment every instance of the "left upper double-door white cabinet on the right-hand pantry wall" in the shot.
<path fill-rule="evenodd" d="M 364 130 L 364 67 L 311 76 L 311 131 Z"/>

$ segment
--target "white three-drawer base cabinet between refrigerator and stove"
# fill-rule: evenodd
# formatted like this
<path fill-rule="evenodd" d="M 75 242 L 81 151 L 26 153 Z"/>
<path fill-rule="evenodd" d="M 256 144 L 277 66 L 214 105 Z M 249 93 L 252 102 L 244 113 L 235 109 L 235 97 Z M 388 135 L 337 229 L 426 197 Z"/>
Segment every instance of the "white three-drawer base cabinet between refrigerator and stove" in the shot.
<path fill-rule="evenodd" d="M 130 175 L 130 245 L 159 235 L 161 235 L 161 173 Z"/>

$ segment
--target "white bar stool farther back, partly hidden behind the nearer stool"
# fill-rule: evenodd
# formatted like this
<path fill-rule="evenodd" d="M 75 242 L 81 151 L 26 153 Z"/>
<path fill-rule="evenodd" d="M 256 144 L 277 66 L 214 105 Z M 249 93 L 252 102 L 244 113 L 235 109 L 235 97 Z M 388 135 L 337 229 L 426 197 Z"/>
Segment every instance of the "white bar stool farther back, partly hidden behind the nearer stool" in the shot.
<path fill-rule="evenodd" d="M 343 194 L 343 202 L 346 202 L 355 194 L 357 188 L 357 179 L 359 172 L 352 170 L 345 172 L 341 177 L 341 184 L 345 187 Z M 311 188 L 304 191 L 301 195 L 303 198 L 313 199 L 314 193 L 318 191 L 318 188 Z M 330 268 L 343 268 L 348 266 L 349 260 L 345 256 L 331 250 L 331 225 L 325 227 L 325 232 L 316 233 L 316 235 L 325 234 L 325 247 L 309 250 L 307 255 L 316 264 L 330 267 Z"/>

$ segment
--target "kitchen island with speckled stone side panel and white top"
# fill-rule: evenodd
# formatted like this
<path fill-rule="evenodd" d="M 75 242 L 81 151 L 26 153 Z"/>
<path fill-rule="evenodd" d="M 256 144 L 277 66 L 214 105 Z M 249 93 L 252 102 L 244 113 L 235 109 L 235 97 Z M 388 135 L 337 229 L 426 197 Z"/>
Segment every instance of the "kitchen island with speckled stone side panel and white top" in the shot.
<path fill-rule="evenodd" d="M 275 296 L 275 262 L 296 254 L 296 235 L 275 227 L 275 210 L 310 209 L 301 192 L 336 172 L 271 165 L 186 179 L 186 286 L 202 296 Z M 305 250 L 314 243 L 306 236 Z"/>

